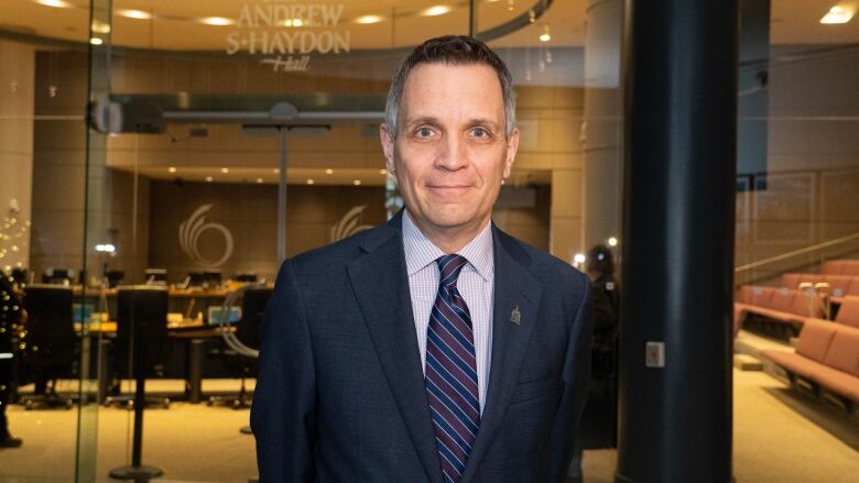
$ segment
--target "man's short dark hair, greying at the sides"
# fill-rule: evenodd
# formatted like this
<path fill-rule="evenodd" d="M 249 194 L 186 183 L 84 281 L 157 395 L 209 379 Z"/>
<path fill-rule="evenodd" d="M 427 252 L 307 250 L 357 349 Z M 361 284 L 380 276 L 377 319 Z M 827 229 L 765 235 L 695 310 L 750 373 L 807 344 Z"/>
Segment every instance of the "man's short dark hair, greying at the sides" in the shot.
<path fill-rule="evenodd" d="M 388 91 L 384 105 L 384 122 L 391 138 L 396 138 L 396 116 L 400 100 L 403 97 L 403 86 L 409 74 L 420 64 L 472 65 L 485 64 L 498 74 L 501 83 L 501 95 L 504 100 L 504 134 L 510 136 L 517 125 L 517 99 L 513 90 L 513 77 L 504 62 L 491 48 L 477 39 L 466 35 L 445 35 L 430 39 L 416 46 L 407 57 L 400 63 Z"/>

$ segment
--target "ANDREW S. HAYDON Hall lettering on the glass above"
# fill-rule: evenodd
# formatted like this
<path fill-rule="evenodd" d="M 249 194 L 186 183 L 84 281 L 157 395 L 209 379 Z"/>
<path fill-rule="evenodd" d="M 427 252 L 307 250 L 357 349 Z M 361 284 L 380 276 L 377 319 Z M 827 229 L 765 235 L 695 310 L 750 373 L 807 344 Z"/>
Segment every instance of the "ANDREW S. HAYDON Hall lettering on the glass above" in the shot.
<path fill-rule="evenodd" d="M 338 29 L 342 3 L 298 0 L 247 2 L 227 34 L 227 55 L 262 55 L 274 72 L 307 72 L 312 54 L 348 53 L 349 30 Z"/>

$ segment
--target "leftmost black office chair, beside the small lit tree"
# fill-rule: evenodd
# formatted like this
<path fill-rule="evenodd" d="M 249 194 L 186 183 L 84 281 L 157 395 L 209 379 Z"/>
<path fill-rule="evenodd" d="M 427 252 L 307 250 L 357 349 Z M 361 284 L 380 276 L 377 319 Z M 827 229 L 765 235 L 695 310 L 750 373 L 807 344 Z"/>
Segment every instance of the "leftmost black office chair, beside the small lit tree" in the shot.
<path fill-rule="evenodd" d="M 35 382 L 33 395 L 22 397 L 24 409 L 68 409 L 74 399 L 57 394 L 56 381 L 74 374 L 77 336 L 72 288 L 30 285 L 24 292 L 23 305 L 29 315 L 26 336 L 22 340 L 23 362 L 30 365 Z"/>

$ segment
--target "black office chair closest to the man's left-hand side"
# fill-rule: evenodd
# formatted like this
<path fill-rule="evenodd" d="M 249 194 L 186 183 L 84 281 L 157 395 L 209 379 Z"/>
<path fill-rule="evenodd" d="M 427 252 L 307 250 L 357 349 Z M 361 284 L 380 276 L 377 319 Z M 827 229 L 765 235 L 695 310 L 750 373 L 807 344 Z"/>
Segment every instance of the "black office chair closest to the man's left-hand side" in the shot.
<path fill-rule="evenodd" d="M 211 396 L 208 405 L 222 404 L 233 409 L 250 406 L 251 397 L 244 386 L 244 380 L 257 373 L 257 356 L 260 349 L 260 323 L 265 312 L 272 289 L 263 285 L 248 285 L 230 294 L 221 308 L 221 337 L 222 344 L 218 354 L 225 358 L 229 367 L 241 377 L 239 394 L 228 396 Z M 229 307 L 239 297 L 242 297 L 241 318 L 236 325 L 236 332 L 230 332 L 227 325 Z"/>

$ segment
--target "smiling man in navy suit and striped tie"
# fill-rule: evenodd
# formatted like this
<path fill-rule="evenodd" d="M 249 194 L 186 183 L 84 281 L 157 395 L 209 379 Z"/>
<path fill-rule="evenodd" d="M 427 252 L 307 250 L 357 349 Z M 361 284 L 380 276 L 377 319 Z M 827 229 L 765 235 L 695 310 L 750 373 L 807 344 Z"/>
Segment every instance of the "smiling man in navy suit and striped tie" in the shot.
<path fill-rule="evenodd" d="M 380 132 L 405 209 L 281 268 L 251 411 L 261 482 L 564 480 L 590 288 L 491 223 L 514 112 L 479 41 L 400 65 Z"/>

